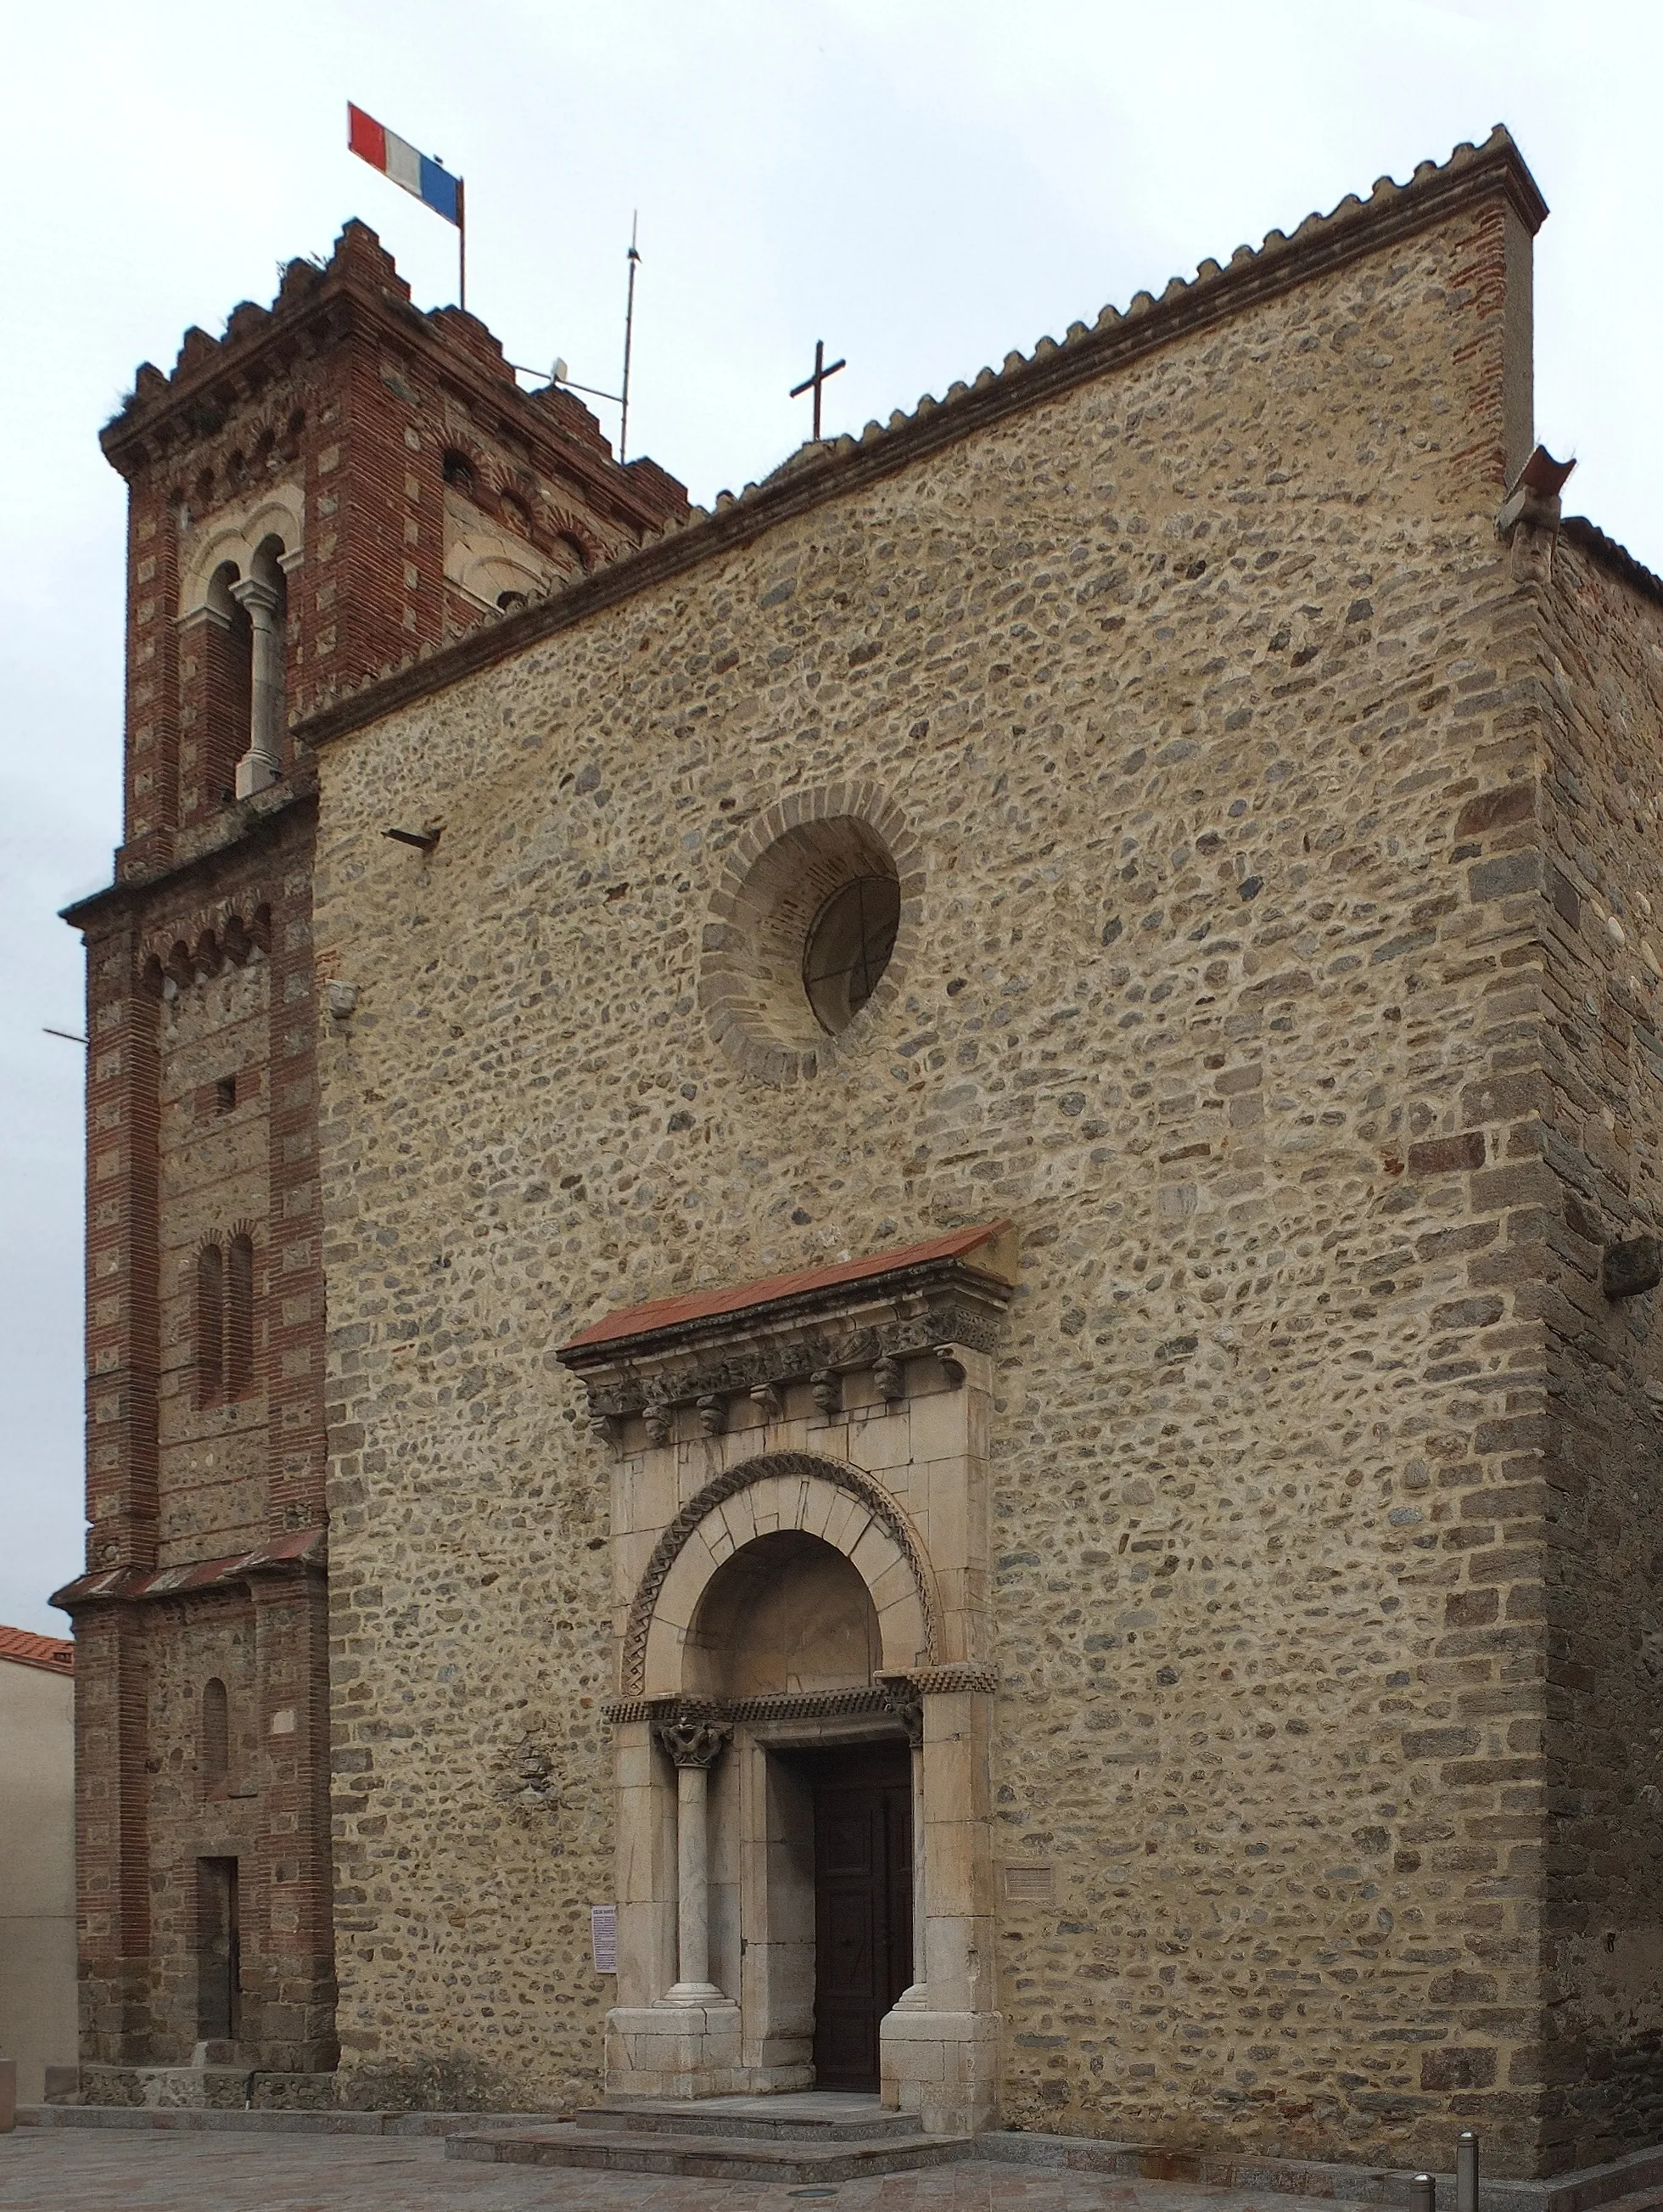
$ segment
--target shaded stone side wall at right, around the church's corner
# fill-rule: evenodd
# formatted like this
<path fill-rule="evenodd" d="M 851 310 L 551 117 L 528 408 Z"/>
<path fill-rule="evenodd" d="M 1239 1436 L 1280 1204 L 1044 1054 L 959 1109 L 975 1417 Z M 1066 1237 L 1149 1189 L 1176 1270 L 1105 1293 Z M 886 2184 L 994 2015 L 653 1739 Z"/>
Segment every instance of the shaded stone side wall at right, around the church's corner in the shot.
<path fill-rule="evenodd" d="M 1663 1225 L 1663 591 L 1586 524 L 1517 566 L 1541 608 L 1552 1018 L 1515 1113 L 1541 1117 L 1519 1219 L 1548 1285 L 1550 1420 L 1517 1436 L 1508 1480 L 1513 1511 L 1548 1520 L 1544 2090 L 1583 2161 L 1663 2130 L 1663 1352 L 1656 1292 L 1601 1287 L 1603 1248 Z"/>

